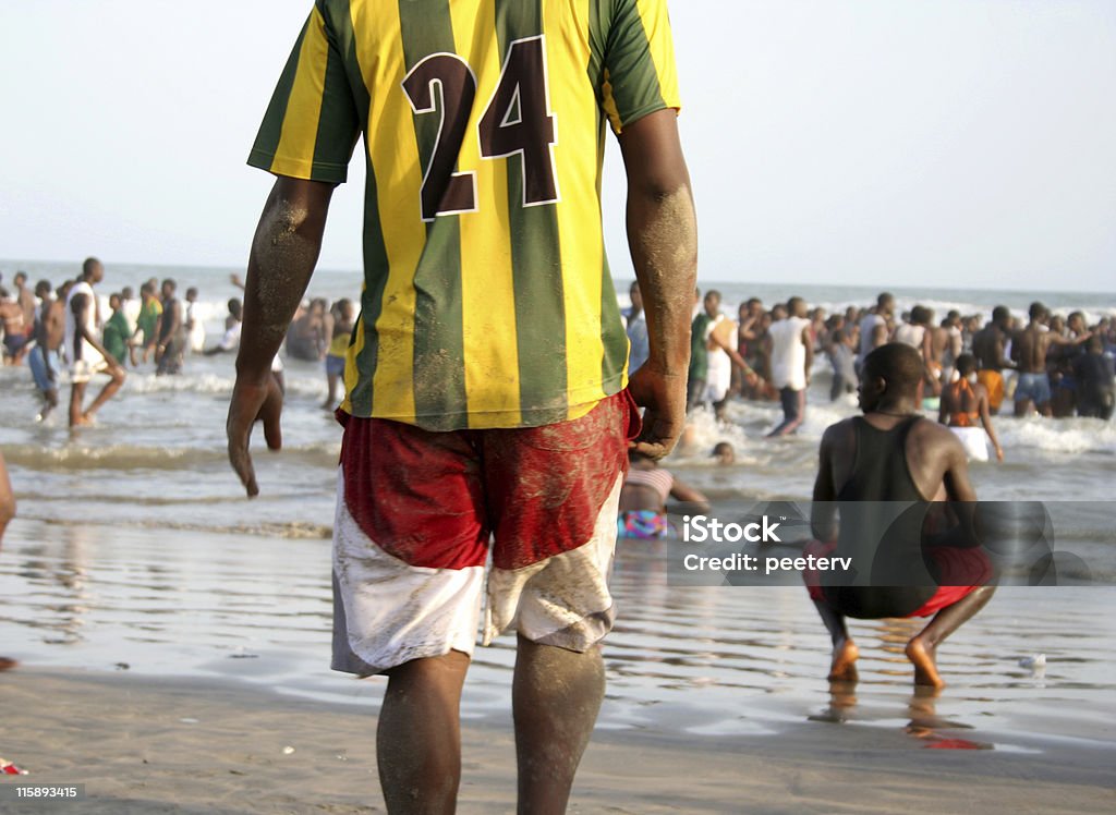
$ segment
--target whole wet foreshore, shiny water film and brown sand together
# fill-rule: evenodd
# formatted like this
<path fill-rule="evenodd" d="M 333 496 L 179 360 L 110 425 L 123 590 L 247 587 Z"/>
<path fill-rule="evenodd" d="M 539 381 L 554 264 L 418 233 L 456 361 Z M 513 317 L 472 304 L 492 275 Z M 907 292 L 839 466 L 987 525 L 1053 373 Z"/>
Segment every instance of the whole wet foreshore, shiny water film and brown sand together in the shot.
<path fill-rule="evenodd" d="M 30 775 L 3 783 L 86 785 L 36 811 L 382 809 L 384 680 L 327 669 L 327 552 L 17 520 L 0 632 L 22 664 L 0 673 L 0 756 Z M 830 688 L 805 592 L 675 586 L 665 554 L 619 552 L 607 697 L 570 812 L 1110 806 L 1113 589 L 1002 588 L 943 646 L 935 698 L 911 685 L 912 623 L 854 623 L 862 681 Z M 478 649 L 466 682 L 463 813 L 514 806 L 512 643 Z M 1038 650 L 1045 669 L 1019 664 Z"/>

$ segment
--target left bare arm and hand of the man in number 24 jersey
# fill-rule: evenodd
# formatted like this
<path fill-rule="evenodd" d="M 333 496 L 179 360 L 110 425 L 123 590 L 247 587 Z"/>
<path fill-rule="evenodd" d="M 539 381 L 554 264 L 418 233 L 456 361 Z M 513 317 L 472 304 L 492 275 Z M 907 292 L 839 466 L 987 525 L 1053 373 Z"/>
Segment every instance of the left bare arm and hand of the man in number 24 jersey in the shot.
<path fill-rule="evenodd" d="M 271 376 L 271 361 L 314 275 L 333 192 L 333 184 L 278 178 L 252 239 L 237 384 L 225 425 L 229 461 L 249 497 L 259 492 L 248 451 L 252 424 L 263 422 L 270 449 L 282 444 L 282 394 Z"/>

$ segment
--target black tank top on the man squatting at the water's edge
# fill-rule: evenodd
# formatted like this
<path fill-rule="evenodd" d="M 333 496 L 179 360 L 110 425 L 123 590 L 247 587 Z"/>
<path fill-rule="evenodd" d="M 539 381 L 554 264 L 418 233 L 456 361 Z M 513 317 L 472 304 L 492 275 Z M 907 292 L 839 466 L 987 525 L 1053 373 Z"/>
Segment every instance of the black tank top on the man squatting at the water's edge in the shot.
<path fill-rule="evenodd" d="M 822 595 L 850 617 L 901 617 L 921 607 L 936 589 L 923 558 L 923 526 L 930 502 L 911 477 L 906 441 L 922 421 L 912 416 L 879 430 L 853 419 L 856 459 L 837 492 L 839 557 L 852 557 L 855 574 L 824 573 Z"/>

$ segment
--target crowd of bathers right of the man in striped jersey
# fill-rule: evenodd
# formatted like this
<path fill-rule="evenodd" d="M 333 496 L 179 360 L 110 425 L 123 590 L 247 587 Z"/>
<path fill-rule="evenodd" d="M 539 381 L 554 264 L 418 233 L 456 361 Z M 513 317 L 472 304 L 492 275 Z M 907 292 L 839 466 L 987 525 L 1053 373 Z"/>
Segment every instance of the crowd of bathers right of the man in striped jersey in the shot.
<path fill-rule="evenodd" d="M 806 415 L 815 359 L 831 371 L 829 400 L 857 391 L 865 357 L 887 343 L 913 347 L 923 363 L 922 396 L 937 411 L 974 458 L 987 458 L 983 429 L 997 458 L 1003 451 L 991 416 L 1004 402 L 1016 416 L 1108 420 L 1114 406 L 1113 357 L 1116 320 L 1088 325 L 1075 310 L 1056 314 L 1041 303 L 1028 318 L 1006 306 L 985 315 L 956 310 L 936 318 L 927 306 L 898 314 L 895 297 L 882 293 L 874 305 L 827 313 L 802 298 L 764 306 L 751 297 L 735 318 L 721 310 L 721 294 L 695 293 L 687 409 L 712 409 L 718 418 L 733 399 L 779 401 L 783 419 L 769 435 L 793 433 Z M 632 370 L 646 358 L 646 323 L 638 286 L 632 286 L 627 316 Z M 975 431 L 975 434 L 974 432 Z"/>

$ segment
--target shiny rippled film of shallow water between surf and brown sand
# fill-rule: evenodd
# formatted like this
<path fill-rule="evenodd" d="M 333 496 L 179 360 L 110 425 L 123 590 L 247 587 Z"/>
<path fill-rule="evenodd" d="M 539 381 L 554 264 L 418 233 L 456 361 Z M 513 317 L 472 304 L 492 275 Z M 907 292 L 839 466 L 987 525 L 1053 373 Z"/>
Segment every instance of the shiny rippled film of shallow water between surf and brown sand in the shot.
<path fill-rule="evenodd" d="M 663 541 L 617 553 L 604 730 L 731 737 L 809 719 L 905 731 L 920 747 L 1002 749 L 1036 732 L 1110 739 L 1095 711 L 1116 700 L 1112 589 L 1002 589 L 951 640 L 950 688 L 912 697 L 903 648 L 916 622 L 850 621 L 860 681 L 829 688 L 829 639 L 804 589 L 674 586 L 665 554 Z M 327 669 L 328 564 L 323 540 L 17 520 L 0 558 L 0 642 L 30 664 L 125 663 L 375 707 L 382 679 Z M 478 649 L 466 719 L 506 715 L 513 643 Z M 1036 652 L 1046 665 L 1023 667 Z"/>

